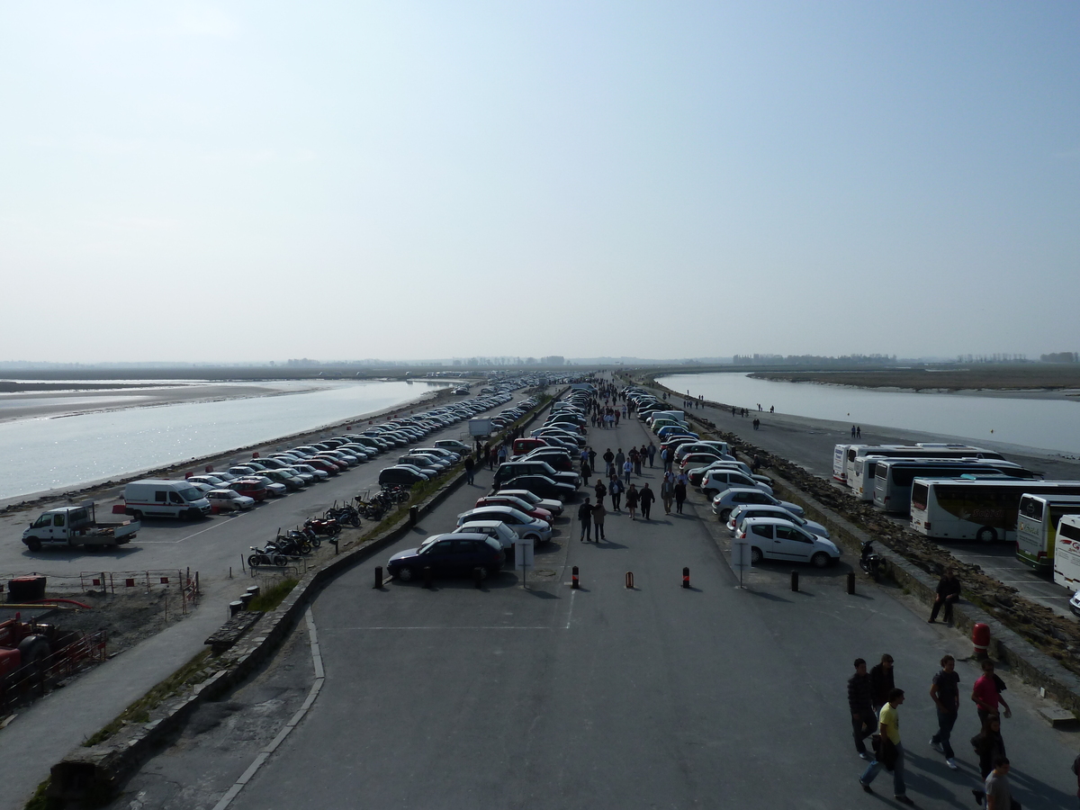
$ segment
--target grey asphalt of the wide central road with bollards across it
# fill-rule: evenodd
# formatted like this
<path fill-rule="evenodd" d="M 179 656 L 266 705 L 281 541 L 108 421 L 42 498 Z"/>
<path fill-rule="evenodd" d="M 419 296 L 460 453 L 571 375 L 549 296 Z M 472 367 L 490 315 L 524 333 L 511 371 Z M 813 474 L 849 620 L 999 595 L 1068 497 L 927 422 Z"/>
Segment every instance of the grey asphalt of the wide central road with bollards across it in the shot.
<path fill-rule="evenodd" d="M 633 421 L 591 431 L 600 453 L 643 437 Z M 658 481 L 658 469 L 646 473 Z M 787 567 L 769 565 L 740 590 L 705 512 L 664 516 L 658 508 L 648 523 L 612 514 L 599 544 L 579 542 L 563 518 L 528 588 L 511 571 L 483 590 L 454 580 L 431 591 L 373 588 L 376 565 L 451 526 L 486 481 L 483 473 L 478 486 L 459 489 L 415 538 L 318 597 L 325 683 L 231 807 L 890 806 L 888 774 L 873 797 L 856 784 L 864 762 L 845 692 L 851 661 L 883 651 L 908 690 L 908 794 L 926 808 L 970 806 L 977 768 L 967 740 L 976 719 L 967 701 L 954 732 L 961 770 L 949 771 L 926 743 L 936 725 L 927 690 L 937 660 L 966 657 L 970 644 L 928 625 L 895 590 L 860 581 L 860 594 L 847 595 L 843 563 L 801 570 L 798 593 Z M 580 567 L 579 591 L 569 586 L 571 566 Z M 684 566 L 689 590 L 680 588 Z M 296 650 L 280 663 L 301 666 Z M 962 661 L 959 672 L 970 689 L 973 665 Z M 1074 807 L 1076 735 L 1050 729 L 1034 713 L 1038 699 L 1004 677 L 1016 797 L 1026 808 Z M 249 705 L 238 714 L 252 716 Z M 261 744 L 243 739 L 243 727 L 237 719 L 217 738 L 201 737 L 221 752 L 211 767 L 186 748 L 154 758 L 113 807 L 213 807 Z M 165 783 L 199 783 L 206 804 L 190 791 L 152 789 Z"/>

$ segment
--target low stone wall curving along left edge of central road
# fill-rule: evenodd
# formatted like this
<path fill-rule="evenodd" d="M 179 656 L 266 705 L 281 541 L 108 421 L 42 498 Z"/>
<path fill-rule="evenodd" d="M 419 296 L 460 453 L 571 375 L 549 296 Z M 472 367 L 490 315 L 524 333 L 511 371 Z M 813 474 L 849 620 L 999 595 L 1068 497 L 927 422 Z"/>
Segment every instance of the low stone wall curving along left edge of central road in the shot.
<path fill-rule="evenodd" d="M 521 421 L 521 427 L 531 424 L 559 396 L 563 389 Z M 502 440 L 500 440 L 501 442 Z M 497 444 L 495 446 L 498 446 Z M 418 504 L 423 515 L 442 503 L 465 481 L 460 470 L 449 481 Z M 49 796 L 63 801 L 84 801 L 114 795 L 126 779 L 166 739 L 179 730 L 204 701 L 220 699 L 230 689 L 246 680 L 255 670 L 268 661 L 278 647 L 299 622 L 308 604 L 339 575 L 366 561 L 376 552 L 392 545 L 413 528 L 408 515 L 378 536 L 367 540 L 319 568 L 308 571 L 276 609 L 266 613 L 255 625 L 261 635 L 245 637 L 221 656 L 226 669 L 194 686 L 190 692 L 165 701 L 156 713 L 163 716 L 150 723 L 132 725 L 108 740 L 90 747 L 79 746 L 50 769 Z"/>

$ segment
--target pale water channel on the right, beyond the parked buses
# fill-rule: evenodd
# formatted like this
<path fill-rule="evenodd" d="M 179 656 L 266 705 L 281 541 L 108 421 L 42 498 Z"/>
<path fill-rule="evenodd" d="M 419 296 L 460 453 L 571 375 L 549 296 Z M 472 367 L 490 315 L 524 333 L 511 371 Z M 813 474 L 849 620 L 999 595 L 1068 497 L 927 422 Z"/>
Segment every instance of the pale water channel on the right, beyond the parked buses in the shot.
<path fill-rule="evenodd" d="M 915 393 L 759 380 L 743 373 L 678 374 L 658 378 L 674 391 L 768 413 L 832 419 L 957 436 L 972 444 L 1005 443 L 1080 455 L 1080 403 L 1061 399 Z"/>

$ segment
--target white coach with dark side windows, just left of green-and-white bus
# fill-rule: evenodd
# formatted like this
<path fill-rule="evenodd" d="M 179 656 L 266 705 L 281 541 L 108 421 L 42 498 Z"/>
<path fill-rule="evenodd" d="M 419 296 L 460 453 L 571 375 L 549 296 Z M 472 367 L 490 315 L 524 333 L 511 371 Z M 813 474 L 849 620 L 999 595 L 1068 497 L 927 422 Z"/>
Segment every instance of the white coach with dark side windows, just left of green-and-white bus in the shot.
<path fill-rule="evenodd" d="M 1015 540 L 1020 499 L 1025 492 L 1080 495 L 1080 481 L 916 478 L 912 530 L 943 540 Z"/>

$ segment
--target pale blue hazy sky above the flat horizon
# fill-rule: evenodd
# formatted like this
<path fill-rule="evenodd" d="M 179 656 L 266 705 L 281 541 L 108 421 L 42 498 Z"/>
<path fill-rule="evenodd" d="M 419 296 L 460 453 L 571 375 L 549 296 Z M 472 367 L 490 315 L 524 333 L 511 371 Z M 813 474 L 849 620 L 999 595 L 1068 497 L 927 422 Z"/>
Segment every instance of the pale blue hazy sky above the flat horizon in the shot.
<path fill-rule="evenodd" d="M 0 360 L 1080 349 L 1076 2 L 0 4 Z"/>

